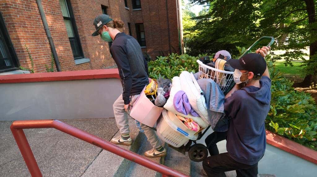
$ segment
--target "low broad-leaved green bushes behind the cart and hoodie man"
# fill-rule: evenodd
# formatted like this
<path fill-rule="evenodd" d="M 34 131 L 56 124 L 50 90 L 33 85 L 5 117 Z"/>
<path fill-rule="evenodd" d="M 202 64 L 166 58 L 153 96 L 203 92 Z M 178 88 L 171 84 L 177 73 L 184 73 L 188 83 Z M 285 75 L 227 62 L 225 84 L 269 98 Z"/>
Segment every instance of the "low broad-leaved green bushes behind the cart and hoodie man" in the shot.
<path fill-rule="evenodd" d="M 245 51 L 245 48 L 237 49 L 240 55 Z M 203 56 L 205 55 L 193 57 L 187 54 L 171 54 L 167 57 L 157 57 L 155 61 L 149 62 L 149 75 L 155 79 L 159 76 L 172 79 L 184 70 L 198 72 L 196 60 Z M 270 55 L 266 58 L 269 61 Z M 283 73 L 275 69 L 272 62 L 268 62 L 268 69 L 272 80 L 272 98 L 265 128 L 317 150 L 317 106 L 313 98 L 310 94 L 295 91 L 291 87 L 293 82 L 283 77 Z"/>

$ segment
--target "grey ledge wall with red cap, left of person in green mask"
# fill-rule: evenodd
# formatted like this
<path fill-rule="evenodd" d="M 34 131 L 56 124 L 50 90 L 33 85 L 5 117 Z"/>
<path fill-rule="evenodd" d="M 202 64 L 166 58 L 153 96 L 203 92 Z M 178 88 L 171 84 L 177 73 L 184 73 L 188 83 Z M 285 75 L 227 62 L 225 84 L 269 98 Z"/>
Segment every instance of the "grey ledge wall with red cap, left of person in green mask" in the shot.
<path fill-rule="evenodd" d="M 118 69 L 0 76 L 0 121 L 112 118 Z"/>

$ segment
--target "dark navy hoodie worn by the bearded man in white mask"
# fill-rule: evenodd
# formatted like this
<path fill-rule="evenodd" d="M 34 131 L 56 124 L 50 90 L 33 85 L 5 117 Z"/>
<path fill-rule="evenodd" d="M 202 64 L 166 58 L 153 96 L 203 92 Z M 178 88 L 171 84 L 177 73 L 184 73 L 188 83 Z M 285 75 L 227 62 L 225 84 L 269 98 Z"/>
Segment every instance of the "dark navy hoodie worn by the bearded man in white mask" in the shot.
<path fill-rule="evenodd" d="M 260 85 L 237 90 L 224 102 L 230 118 L 227 151 L 232 159 L 247 165 L 260 161 L 266 147 L 264 121 L 270 110 L 270 78 L 262 76 Z"/>

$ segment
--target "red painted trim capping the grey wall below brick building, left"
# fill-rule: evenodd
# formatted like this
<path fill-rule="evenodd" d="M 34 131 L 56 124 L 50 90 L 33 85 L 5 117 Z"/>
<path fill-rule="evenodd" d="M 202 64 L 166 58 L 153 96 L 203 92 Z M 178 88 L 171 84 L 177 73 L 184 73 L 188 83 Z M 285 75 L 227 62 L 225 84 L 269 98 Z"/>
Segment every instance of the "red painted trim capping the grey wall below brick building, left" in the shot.
<path fill-rule="evenodd" d="M 0 83 L 67 81 L 81 79 L 120 78 L 118 69 L 93 69 L 51 73 L 0 75 Z"/>

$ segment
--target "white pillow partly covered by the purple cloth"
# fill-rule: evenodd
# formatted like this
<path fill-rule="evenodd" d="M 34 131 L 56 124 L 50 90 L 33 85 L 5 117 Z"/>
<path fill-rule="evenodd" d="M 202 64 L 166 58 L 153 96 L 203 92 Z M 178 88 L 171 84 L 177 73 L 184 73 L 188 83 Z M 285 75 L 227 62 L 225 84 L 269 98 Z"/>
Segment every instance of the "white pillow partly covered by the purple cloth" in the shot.
<path fill-rule="evenodd" d="M 206 123 L 201 117 L 194 117 L 194 116 L 192 116 L 190 114 L 189 115 L 184 115 L 184 114 L 178 112 L 174 108 L 174 104 L 173 104 L 174 95 L 180 90 L 182 90 L 182 87 L 180 85 L 179 77 L 175 76 L 172 79 L 172 87 L 171 87 L 171 90 L 170 90 L 170 97 L 166 101 L 166 103 L 164 105 L 164 108 L 169 110 L 169 111 L 171 111 L 174 114 L 180 115 L 180 116 L 185 117 L 185 118 L 193 119 L 193 121 L 195 121 L 202 128 L 208 127 L 209 123 Z"/>

